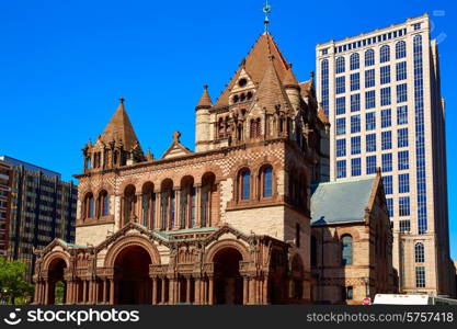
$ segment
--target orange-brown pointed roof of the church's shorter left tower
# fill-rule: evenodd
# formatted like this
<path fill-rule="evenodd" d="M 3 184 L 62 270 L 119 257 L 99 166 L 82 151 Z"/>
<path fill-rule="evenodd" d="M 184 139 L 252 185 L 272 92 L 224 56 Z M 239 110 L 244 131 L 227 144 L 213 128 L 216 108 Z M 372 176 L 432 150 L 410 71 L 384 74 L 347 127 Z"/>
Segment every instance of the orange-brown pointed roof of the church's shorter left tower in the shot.
<path fill-rule="evenodd" d="M 136 144 L 139 144 L 127 112 L 125 111 L 124 99 L 121 99 L 116 112 L 114 112 L 100 139 L 105 144 L 112 140 L 116 143 L 122 140 L 125 150 L 130 150 Z"/>

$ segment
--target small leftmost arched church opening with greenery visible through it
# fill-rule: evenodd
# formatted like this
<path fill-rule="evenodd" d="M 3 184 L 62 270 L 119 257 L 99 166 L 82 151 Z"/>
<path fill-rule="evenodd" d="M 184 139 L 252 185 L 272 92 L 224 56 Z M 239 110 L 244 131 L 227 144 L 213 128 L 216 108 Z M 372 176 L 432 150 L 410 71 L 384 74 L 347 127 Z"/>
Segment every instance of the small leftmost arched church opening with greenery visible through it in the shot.
<path fill-rule="evenodd" d="M 64 272 L 67 263 L 61 258 L 53 260 L 48 268 L 48 305 L 65 304 L 67 295 L 67 283 L 64 280 Z"/>

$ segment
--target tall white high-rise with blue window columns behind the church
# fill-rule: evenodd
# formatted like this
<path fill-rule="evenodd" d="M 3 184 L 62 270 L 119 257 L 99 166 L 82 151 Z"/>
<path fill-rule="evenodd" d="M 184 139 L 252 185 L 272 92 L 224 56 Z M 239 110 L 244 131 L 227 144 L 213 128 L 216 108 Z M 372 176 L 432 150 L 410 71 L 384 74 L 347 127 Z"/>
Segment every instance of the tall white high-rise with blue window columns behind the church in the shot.
<path fill-rule="evenodd" d="M 401 292 L 455 294 L 444 100 L 429 16 L 316 47 L 330 179 L 381 168 Z M 454 274 L 453 274 L 454 271 Z"/>

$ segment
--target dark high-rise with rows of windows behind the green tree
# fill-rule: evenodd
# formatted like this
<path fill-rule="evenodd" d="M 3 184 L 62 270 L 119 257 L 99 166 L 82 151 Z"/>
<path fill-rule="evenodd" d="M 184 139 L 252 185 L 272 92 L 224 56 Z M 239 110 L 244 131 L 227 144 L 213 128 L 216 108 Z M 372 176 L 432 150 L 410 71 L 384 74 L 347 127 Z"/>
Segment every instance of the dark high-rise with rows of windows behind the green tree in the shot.
<path fill-rule="evenodd" d="M 75 241 L 78 186 L 52 170 L 7 156 L 0 160 L 12 167 L 8 259 L 27 263 L 32 279 L 34 249 L 55 238 Z"/>

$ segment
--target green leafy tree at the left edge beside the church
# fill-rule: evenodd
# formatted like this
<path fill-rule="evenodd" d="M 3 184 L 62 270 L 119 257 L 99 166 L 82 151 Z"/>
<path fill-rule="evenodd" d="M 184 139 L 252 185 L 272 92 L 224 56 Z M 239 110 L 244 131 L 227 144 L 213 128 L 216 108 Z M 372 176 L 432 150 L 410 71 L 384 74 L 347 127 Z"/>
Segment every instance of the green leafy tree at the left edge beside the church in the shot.
<path fill-rule="evenodd" d="M 24 280 L 26 264 L 21 261 L 7 261 L 0 258 L 0 300 L 15 304 L 15 299 L 27 299 L 34 287 Z"/>

